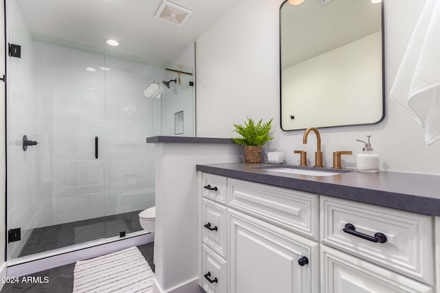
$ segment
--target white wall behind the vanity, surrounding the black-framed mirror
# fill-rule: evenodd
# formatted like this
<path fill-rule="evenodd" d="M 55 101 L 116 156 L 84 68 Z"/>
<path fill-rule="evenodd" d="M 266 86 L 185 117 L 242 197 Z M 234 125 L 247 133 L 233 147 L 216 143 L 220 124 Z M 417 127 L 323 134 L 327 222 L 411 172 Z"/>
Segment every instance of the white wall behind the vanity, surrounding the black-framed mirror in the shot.
<path fill-rule="evenodd" d="M 278 11 L 283 1 L 241 0 L 197 39 L 197 136 L 231 137 L 232 124 L 246 116 L 274 117 L 270 148 L 286 154 L 287 163 L 299 163 L 294 150 L 309 152 L 314 164 L 316 145 L 303 131 L 283 132 L 279 120 Z M 386 0 L 386 92 L 388 93 L 426 0 Z M 424 132 L 410 115 L 386 97 L 386 118 L 372 126 L 320 130 L 325 165 L 332 152 L 353 150 L 344 167 L 355 167 L 355 154 L 372 134 L 380 154 L 381 169 L 397 172 L 440 174 L 440 142 L 427 146 Z"/>

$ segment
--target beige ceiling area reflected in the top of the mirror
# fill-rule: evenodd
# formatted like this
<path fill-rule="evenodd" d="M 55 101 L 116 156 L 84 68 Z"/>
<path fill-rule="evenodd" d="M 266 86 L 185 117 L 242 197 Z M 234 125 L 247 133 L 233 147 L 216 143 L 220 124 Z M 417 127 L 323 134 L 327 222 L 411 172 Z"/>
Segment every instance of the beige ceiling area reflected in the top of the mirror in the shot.
<path fill-rule="evenodd" d="M 282 67 L 318 56 L 382 30 L 381 3 L 307 0 L 281 9 Z"/>

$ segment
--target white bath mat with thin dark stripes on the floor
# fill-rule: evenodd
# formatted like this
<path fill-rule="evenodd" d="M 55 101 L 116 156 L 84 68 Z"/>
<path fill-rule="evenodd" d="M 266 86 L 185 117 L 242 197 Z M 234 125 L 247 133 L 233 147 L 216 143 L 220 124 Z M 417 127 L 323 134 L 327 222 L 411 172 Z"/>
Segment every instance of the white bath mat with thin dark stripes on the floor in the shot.
<path fill-rule="evenodd" d="M 74 293 L 153 292 L 154 273 L 137 247 L 76 261 Z"/>

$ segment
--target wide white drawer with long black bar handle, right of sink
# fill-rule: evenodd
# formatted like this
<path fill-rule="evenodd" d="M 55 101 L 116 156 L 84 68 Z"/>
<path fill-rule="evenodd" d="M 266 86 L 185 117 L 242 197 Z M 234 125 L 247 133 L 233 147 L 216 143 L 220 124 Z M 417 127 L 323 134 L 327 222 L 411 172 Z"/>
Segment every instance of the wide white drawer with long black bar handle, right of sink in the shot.
<path fill-rule="evenodd" d="M 430 216 L 328 196 L 320 206 L 322 243 L 433 285 Z"/>

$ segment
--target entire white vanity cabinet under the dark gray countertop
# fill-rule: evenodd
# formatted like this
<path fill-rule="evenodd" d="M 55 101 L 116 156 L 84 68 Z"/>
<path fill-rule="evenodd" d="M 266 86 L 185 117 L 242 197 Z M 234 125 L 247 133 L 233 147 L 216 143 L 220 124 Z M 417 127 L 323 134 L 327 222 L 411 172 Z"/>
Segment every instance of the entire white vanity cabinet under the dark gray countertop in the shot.
<path fill-rule="evenodd" d="M 202 172 L 199 186 L 206 292 L 440 293 L 438 218 Z"/>

